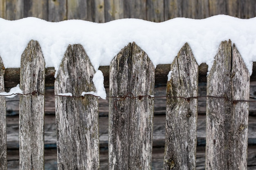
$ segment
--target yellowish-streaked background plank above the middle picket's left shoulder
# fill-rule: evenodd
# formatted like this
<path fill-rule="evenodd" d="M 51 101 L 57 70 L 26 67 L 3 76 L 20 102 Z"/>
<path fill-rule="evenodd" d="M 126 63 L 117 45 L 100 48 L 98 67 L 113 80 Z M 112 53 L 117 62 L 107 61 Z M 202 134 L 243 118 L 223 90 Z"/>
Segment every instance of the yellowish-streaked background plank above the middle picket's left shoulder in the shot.
<path fill-rule="evenodd" d="M 105 22 L 124 18 L 123 0 L 104 0 Z"/>

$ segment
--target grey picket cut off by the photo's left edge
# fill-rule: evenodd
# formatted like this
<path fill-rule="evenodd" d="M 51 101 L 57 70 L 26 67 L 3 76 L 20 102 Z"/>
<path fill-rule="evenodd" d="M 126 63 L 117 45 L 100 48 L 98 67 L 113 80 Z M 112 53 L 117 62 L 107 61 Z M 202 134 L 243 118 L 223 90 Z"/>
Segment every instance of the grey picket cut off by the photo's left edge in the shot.
<path fill-rule="evenodd" d="M 0 57 L 0 92 L 4 91 L 4 64 Z M 0 169 L 7 170 L 7 138 L 5 99 L 0 97 Z"/>

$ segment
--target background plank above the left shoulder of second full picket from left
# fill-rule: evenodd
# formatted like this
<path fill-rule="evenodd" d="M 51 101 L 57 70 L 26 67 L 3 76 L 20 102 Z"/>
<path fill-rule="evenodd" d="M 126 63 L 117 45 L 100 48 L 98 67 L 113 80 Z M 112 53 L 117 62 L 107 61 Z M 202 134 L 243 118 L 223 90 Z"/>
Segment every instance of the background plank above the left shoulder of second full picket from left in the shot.
<path fill-rule="evenodd" d="M 48 0 L 48 21 L 59 22 L 67 20 L 67 1 Z"/>

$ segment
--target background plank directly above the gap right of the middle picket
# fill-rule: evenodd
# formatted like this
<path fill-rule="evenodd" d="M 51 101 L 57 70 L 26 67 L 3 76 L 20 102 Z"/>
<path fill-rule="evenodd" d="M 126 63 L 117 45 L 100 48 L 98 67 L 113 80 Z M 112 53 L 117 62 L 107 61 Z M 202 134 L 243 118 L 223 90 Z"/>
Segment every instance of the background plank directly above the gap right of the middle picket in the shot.
<path fill-rule="evenodd" d="M 164 21 L 164 0 L 147 0 L 147 20 Z"/>

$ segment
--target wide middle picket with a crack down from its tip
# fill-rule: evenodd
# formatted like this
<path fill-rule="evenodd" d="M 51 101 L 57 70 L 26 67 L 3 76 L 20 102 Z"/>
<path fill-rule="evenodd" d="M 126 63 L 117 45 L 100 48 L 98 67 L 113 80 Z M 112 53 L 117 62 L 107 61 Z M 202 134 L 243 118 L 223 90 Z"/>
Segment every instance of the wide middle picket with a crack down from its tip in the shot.
<path fill-rule="evenodd" d="M 110 64 L 110 96 L 153 95 L 152 62 L 135 43 Z M 153 98 L 110 98 L 109 169 L 150 170 L 153 141 Z"/>

